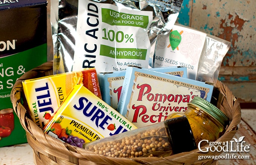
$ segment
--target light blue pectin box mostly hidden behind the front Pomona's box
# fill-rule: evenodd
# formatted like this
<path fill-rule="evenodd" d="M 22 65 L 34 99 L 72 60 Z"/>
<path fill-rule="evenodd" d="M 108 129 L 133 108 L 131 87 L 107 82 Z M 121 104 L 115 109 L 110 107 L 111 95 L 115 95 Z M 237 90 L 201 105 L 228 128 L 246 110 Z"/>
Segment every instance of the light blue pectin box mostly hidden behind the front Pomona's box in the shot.
<path fill-rule="evenodd" d="M 187 77 L 186 67 L 172 66 L 150 69 L 156 72 L 176 75 L 179 77 Z M 98 78 L 101 88 L 102 100 L 105 101 L 108 105 L 111 105 L 111 107 L 116 110 L 123 86 L 123 80 L 125 78 L 125 71 L 99 73 Z"/>

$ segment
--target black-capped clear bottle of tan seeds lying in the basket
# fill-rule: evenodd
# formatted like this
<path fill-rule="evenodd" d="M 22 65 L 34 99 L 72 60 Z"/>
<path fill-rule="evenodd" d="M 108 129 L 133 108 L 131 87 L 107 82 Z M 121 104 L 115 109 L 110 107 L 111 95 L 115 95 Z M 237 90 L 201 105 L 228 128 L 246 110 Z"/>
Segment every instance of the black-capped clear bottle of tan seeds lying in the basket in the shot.
<path fill-rule="evenodd" d="M 197 145 L 183 116 L 98 139 L 84 148 L 111 157 L 160 157 L 191 151 Z"/>

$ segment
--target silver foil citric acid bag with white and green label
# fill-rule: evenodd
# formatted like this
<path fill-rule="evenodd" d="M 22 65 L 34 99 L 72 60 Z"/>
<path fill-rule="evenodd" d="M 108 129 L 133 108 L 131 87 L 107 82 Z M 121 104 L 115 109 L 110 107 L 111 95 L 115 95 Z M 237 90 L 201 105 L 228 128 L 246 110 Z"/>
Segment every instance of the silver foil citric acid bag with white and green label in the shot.
<path fill-rule="evenodd" d="M 148 68 L 151 45 L 171 30 L 183 0 L 52 1 L 55 74 Z M 57 10 L 56 10 L 57 8 Z"/>

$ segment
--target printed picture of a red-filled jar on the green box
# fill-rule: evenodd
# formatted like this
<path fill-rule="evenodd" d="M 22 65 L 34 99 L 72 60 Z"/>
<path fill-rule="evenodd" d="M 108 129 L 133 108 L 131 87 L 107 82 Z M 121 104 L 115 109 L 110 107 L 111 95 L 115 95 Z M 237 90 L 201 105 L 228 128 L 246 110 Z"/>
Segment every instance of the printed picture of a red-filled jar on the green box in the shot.
<path fill-rule="evenodd" d="M 14 130 L 14 114 L 12 108 L 0 110 L 0 126 L 9 127 L 11 130 Z"/>

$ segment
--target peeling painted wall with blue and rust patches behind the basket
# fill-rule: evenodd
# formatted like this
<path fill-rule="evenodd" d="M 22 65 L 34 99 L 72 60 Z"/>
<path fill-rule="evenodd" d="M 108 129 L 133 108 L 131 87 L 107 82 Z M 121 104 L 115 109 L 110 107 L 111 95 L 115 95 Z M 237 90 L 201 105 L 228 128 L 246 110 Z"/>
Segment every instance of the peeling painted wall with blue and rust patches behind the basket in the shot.
<path fill-rule="evenodd" d="M 256 102 L 256 0 L 184 0 L 178 23 L 232 43 L 219 80 L 240 102 Z"/>

